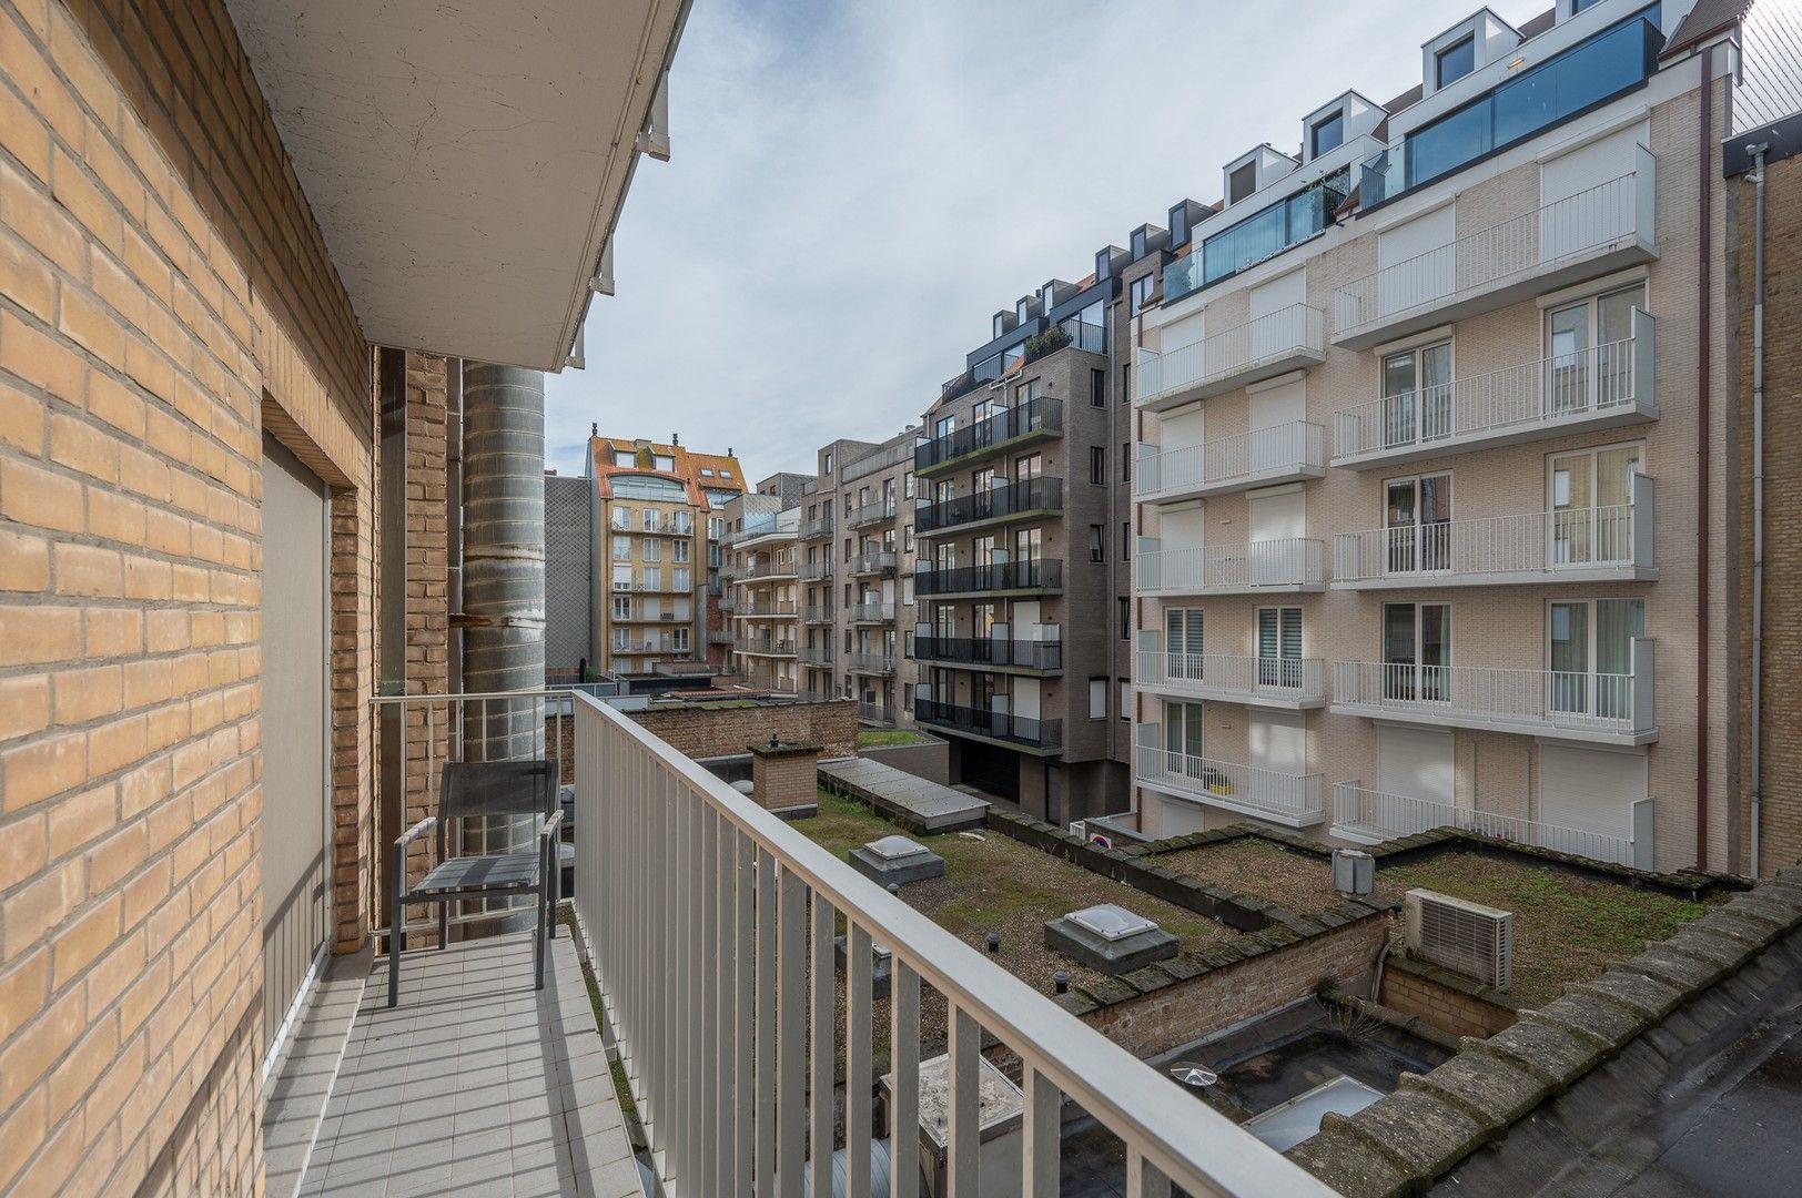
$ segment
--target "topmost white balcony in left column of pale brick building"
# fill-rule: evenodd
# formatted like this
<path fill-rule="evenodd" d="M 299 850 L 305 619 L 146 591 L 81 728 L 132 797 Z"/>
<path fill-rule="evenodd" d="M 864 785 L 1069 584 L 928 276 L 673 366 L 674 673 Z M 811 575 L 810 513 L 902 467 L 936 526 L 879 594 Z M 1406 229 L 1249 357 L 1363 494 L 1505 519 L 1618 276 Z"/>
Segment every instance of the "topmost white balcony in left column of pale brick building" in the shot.
<path fill-rule="evenodd" d="M 1290 304 L 1169 353 L 1139 349 L 1133 407 L 1162 413 L 1324 360 L 1326 313 Z"/>

